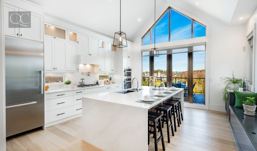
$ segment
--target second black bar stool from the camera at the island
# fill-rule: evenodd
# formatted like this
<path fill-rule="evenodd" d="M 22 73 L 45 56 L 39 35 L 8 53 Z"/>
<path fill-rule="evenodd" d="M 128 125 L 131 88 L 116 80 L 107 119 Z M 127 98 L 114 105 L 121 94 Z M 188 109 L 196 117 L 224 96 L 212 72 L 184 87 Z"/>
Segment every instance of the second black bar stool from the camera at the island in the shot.
<path fill-rule="evenodd" d="M 155 108 L 157 113 L 163 112 L 162 128 L 163 128 L 164 121 L 165 121 L 167 124 L 168 143 L 171 142 L 170 141 L 170 128 L 171 128 L 172 136 L 174 136 L 172 120 L 171 120 L 171 108 L 172 108 L 172 106 L 168 106 L 168 105 L 159 105 L 158 107 Z M 169 120 L 171 121 L 171 124 L 169 124 Z"/>

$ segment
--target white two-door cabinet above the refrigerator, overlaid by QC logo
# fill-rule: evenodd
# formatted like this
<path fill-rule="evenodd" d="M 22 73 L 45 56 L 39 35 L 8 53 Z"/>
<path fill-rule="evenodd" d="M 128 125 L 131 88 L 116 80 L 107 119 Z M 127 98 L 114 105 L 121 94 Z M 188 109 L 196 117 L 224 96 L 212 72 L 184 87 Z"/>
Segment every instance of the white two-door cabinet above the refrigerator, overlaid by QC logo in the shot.
<path fill-rule="evenodd" d="M 19 38 L 24 38 L 24 39 L 29 39 L 29 40 L 35 40 L 35 41 L 44 41 L 44 20 L 43 16 L 35 14 L 33 12 L 31 13 L 31 21 L 29 22 L 31 27 L 26 27 L 22 24 L 19 24 L 18 27 L 9 27 L 9 12 L 10 11 L 17 11 L 19 12 L 18 14 L 14 14 L 11 17 L 11 21 L 14 23 L 18 23 L 19 21 L 19 16 L 24 15 L 24 9 L 8 5 L 4 3 L 4 22 L 5 22 L 5 35 L 7 36 L 12 36 L 12 37 L 19 37 Z M 22 20 L 22 18 L 21 18 Z"/>

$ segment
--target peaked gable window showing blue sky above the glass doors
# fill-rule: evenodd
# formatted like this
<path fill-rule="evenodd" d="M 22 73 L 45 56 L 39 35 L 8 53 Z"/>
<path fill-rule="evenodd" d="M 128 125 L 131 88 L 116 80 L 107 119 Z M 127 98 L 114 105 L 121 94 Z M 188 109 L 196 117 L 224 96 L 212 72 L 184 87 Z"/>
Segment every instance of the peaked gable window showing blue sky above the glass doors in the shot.
<path fill-rule="evenodd" d="M 152 25 L 142 37 L 142 45 L 203 36 L 206 36 L 205 25 L 169 7 L 156 21 L 155 27 Z"/>

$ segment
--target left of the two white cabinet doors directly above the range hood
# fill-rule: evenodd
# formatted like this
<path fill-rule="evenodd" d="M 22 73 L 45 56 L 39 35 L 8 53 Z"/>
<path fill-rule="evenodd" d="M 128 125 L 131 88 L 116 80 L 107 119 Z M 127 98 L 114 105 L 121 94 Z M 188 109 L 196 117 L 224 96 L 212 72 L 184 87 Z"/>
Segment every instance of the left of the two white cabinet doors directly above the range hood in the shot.
<path fill-rule="evenodd" d="M 88 51 L 88 36 L 79 34 L 79 54 L 89 55 Z"/>

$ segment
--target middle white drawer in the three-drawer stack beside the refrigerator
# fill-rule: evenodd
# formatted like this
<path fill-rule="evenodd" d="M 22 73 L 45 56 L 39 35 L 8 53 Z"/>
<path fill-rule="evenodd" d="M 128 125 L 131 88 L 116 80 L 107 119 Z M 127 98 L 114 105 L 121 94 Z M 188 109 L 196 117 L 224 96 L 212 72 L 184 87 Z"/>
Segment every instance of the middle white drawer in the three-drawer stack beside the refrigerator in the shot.
<path fill-rule="evenodd" d="M 73 105 L 73 96 L 67 96 L 63 98 L 54 98 L 46 100 L 46 111 L 52 111 L 59 108 L 65 108 Z"/>

